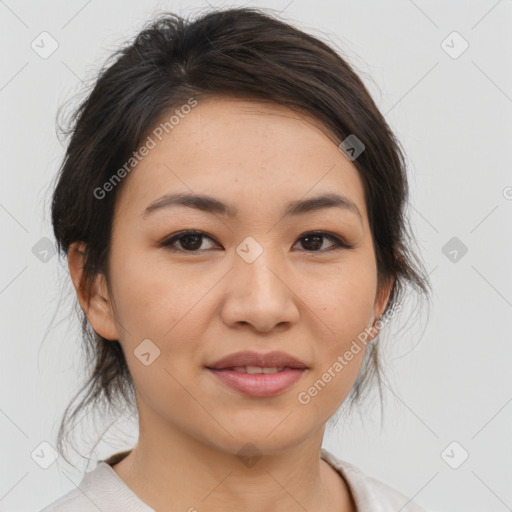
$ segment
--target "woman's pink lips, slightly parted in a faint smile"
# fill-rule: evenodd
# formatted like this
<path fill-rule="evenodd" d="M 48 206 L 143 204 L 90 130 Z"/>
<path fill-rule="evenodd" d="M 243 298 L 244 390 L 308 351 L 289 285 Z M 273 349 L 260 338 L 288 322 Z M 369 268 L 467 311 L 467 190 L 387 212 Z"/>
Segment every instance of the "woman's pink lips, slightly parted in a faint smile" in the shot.
<path fill-rule="evenodd" d="M 285 367 L 277 373 L 242 373 L 237 366 L 259 366 L 261 368 Z M 237 352 L 230 354 L 206 369 L 223 384 L 253 397 L 274 396 L 293 386 L 308 367 L 299 359 L 285 352 Z"/>

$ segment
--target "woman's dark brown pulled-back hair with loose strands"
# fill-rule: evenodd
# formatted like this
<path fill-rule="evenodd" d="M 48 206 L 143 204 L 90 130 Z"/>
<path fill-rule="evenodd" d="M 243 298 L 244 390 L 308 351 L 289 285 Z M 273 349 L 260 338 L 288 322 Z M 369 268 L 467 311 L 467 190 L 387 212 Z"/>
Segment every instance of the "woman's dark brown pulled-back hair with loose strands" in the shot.
<path fill-rule="evenodd" d="M 210 11 L 195 20 L 160 15 L 111 56 L 73 112 L 51 215 L 63 255 L 75 241 L 87 244 L 84 291 L 98 273 L 109 282 L 111 228 L 122 183 L 101 199 L 95 190 L 129 161 L 164 115 L 190 98 L 200 102 L 221 95 L 306 113 L 337 144 L 354 134 L 365 146 L 353 164 L 364 184 L 379 291 L 394 278 L 385 313 L 402 299 L 406 285 L 428 296 L 428 276 L 410 245 L 405 159 L 361 79 L 327 44 L 253 8 Z M 81 411 L 107 405 L 109 410 L 128 407 L 136 412 L 133 380 L 119 341 L 98 335 L 85 313 L 77 311 L 90 366 L 60 424 L 61 454 L 72 420 Z M 368 345 L 346 400 L 350 405 L 360 401 L 372 381 L 380 391 L 378 346 L 377 339 Z"/>

